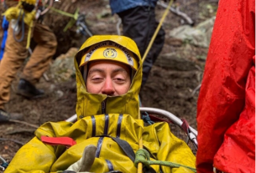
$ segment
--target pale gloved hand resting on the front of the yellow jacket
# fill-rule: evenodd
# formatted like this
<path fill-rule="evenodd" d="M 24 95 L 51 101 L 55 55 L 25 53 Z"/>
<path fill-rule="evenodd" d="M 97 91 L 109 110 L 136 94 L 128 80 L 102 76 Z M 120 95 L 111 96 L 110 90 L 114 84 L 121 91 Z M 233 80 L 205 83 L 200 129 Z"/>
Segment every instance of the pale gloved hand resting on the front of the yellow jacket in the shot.
<path fill-rule="evenodd" d="M 89 173 L 88 171 L 91 170 L 91 165 L 95 160 L 96 154 L 96 146 L 95 145 L 88 145 L 86 146 L 83 154 L 81 155 L 81 159 L 76 161 L 76 163 L 72 164 L 68 169 L 66 169 L 63 173 Z"/>

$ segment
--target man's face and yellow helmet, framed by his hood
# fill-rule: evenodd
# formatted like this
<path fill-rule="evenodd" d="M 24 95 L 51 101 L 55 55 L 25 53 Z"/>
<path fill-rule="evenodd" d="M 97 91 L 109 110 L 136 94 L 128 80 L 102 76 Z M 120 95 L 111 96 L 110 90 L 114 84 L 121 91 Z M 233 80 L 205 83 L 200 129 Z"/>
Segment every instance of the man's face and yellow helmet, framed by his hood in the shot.
<path fill-rule="evenodd" d="M 81 59 L 80 67 L 86 66 L 83 76 L 89 93 L 125 94 L 131 84 L 132 71 L 138 69 L 138 60 L 131 51 L 109 44 L 111 42 L 98 43 Z"/>

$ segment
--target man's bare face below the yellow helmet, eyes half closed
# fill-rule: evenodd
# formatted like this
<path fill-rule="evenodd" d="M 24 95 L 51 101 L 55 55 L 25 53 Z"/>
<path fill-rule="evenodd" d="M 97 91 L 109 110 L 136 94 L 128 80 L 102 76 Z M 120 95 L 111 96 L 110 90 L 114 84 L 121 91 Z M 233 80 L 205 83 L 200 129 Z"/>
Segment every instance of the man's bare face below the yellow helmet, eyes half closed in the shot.
<path fill-rule="evenodd" d="M 112 61 L 96 61 L 88 64 L 87 92 L 118 96 L 130 88 L 130 68 Z"/>

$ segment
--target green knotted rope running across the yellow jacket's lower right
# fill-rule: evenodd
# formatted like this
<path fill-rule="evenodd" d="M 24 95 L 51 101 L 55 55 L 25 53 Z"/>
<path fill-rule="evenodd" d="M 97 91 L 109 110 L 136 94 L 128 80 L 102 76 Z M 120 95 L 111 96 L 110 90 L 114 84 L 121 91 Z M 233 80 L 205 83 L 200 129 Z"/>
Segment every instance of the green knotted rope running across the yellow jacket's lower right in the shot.
<path fill-rule="evenodd" d="M 189 170 L 192 170 L 193 172 L 196 172 L 196 168 L 192 168 L 191 166 L 176 164 L 170 161 L 150 160 L 149 152 L 145 149 L 137 150 L 135 155 L 134 165 L 138 167 L 138 163 L 143 163 L 144 166 L 148 168 L 150 165 L 165 165 L 171 168 L 179 168 L 180 166 L 182 166 Z"/>

